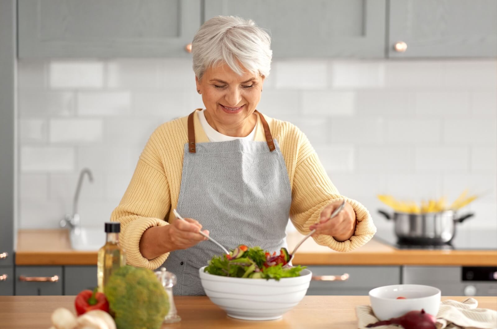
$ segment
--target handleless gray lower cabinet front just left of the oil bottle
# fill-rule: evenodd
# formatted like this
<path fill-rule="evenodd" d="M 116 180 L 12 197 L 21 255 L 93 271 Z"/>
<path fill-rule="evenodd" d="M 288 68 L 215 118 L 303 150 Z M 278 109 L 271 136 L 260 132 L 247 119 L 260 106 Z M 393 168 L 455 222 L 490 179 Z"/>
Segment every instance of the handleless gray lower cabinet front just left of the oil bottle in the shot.
<path fill-rule="evenodd" d="M 78 295 L 96 286 L 96 266 L 64 266 L 64 295 Z"/>

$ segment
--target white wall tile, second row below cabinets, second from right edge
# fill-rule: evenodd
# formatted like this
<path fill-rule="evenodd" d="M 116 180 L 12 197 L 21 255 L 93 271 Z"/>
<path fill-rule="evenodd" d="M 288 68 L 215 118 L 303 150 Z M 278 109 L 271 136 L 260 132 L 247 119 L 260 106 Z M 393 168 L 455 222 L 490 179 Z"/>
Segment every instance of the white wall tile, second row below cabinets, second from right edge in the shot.
<path fill-rule="evenodd" d="M 420 91 L 415 94 L 416 115 L 419 117 L 469 117 L 469 92 Z"/>

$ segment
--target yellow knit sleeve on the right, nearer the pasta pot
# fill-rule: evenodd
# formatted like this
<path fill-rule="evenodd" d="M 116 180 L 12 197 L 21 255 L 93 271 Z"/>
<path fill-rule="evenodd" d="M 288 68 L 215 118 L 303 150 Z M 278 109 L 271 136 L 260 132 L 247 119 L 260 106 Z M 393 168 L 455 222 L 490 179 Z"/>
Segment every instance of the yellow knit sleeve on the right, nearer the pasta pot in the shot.
<path fill-rule="evenodd" d="M 290 207 L 290 219 L 293 225 L 301 234 L 307 235 L 310 232 L 309 227 L 318 221 L 326 205 L 345 199 L 355 211 L 357 225 L 354 235 L 344 242 L 338 242 L 324 234 L 313 236 L 313 239 L 319 245 L 336 251 L 350 251 L 366 244 L 376 233 L 376 227 L 368 210 L 359 202 L 338 193 L 305 136 L 300 149 L 307 156 L 298 162 L 293 176 Z"/>

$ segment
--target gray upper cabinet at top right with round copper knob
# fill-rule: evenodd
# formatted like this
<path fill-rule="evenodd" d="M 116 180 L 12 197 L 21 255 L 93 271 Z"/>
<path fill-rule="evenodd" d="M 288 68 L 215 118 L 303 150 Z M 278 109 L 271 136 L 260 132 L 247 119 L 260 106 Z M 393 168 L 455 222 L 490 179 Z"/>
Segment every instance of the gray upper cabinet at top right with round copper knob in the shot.
<path fill-rule="evenodd" d="M 497 56 L 496 0 L 391 0 L 389 6 L 391 58 Z"/>

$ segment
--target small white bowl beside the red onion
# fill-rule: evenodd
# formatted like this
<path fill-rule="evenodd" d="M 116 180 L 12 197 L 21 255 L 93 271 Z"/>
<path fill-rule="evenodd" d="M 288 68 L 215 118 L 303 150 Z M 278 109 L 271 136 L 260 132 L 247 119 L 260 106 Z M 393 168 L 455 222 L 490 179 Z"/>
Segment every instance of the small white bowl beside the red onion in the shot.
<path fill-rule="evenodd" d="M 424 309 L 436 317 L 440 307 L 440 289 L 419 284 L 396 284 L 369 291 L 375 316 L 380 320 L 398 318 L 409 311 Z M 406 297 L 406 299 L 397 299 Z"/>

